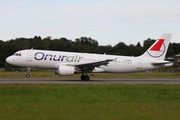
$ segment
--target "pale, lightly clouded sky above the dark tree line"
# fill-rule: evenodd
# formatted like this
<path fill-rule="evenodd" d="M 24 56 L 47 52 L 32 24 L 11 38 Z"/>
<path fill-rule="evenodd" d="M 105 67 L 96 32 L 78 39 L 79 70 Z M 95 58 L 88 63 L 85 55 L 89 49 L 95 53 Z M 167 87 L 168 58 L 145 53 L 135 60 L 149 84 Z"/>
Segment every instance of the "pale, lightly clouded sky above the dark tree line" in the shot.
<path fill-rule="evenodd" d="M 99 45 L 136 45 L 163 33 L 180 43 L 180 0 L 0 0 L 3 41 L 90 37 Z"/>

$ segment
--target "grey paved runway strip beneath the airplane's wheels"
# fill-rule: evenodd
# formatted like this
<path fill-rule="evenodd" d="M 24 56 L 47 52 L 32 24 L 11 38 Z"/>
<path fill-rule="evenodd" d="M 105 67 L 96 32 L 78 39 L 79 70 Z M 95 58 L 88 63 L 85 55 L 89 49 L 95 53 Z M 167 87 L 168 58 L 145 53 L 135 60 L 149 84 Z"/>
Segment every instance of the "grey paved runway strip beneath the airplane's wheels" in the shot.
<path fill-rule="evenodd" d="M 0 84 L 180 84 L 180 78 L 0 78 Z"/>

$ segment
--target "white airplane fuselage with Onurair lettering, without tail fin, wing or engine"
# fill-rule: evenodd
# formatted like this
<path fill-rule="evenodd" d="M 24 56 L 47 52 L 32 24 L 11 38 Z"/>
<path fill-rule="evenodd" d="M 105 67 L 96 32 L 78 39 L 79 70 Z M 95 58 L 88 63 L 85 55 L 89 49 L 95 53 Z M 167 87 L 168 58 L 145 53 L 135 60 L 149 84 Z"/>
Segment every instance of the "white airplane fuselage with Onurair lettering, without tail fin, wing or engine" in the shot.
<path fill-rule="evenodd" d="M 47 50 L 21 50 L 8 57 L 6 61 L 19 67 L 57 69 L 59 64 L 73 66 L 77 64 L 103 61 L 106 59 L 115 60 L 109 62 L 108 65 L 99 66 L 98 69 L 95 69 L 92 72 L 129 73 L 164 67 L 164 65 L 154 66 L 151 63 L 154 62 L 155 59 L 141 56 L 129 57 Z"/>

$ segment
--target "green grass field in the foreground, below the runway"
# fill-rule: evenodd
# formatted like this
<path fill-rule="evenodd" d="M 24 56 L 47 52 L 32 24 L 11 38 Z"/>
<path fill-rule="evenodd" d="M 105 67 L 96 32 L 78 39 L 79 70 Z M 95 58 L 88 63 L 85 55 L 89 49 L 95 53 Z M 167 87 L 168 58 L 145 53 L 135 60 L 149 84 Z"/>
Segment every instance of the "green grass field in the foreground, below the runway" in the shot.
<path fill-rule="evenodd" d="M 178 120 L 180 85 L 0 85 L 1 120 Z"/>

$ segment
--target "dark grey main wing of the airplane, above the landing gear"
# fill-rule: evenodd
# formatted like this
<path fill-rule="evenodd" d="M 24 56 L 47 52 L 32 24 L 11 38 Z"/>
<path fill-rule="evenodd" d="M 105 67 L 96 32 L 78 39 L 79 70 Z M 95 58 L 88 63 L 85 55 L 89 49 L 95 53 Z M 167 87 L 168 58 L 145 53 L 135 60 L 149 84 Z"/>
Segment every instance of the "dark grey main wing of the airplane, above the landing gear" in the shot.
<path fill-rule="evenodd" d="M 87 72 L 92 72 L 95 69 L 95 67 L 100 67 L 102 65 L 107 66 L 109 64 L 109 62 L 115 61 L 116 59 L 117 58 L 106 59 L 106 60 L 91 62 L 91 63 L 76 64 L 75 67 L 77 70 L 80 70 L 81 72 L 87 73 Z"/>

